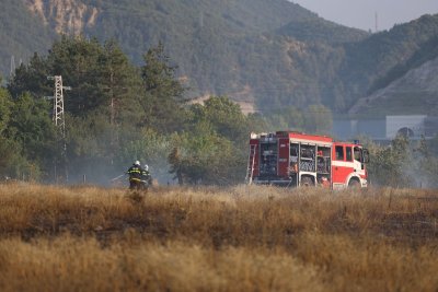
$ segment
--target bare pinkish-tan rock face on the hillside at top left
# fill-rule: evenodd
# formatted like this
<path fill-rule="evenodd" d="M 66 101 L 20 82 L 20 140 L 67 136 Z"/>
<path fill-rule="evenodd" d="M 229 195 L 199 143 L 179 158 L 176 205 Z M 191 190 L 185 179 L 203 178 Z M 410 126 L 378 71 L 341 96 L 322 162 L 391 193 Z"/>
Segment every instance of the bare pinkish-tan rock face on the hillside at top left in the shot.
<path fill-rule="evenodd" d="M 24 0 L 27 8 L 59 34 L 79 35 L 95 25 L 99 9 L 80 0 Z"/>

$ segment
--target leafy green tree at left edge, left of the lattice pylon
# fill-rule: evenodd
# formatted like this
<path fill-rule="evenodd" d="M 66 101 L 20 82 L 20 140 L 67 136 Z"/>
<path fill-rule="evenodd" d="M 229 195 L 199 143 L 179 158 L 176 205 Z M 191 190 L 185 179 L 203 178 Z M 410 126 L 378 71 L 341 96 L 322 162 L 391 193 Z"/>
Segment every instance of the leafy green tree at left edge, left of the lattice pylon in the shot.
<path fill-rule="evenodd" d="M 10 100 L 0 90 L 0 174 L 37 179 L 47 170 L 54 153 L 55 129 L 49 105 L 23 94 Z"/>

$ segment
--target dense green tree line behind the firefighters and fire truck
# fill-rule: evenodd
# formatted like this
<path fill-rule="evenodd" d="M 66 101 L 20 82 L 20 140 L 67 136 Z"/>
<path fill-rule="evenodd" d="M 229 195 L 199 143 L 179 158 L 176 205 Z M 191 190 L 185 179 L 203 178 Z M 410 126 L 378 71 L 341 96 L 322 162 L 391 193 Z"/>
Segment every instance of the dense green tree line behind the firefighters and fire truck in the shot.
<path fill-rule="evenodd" d="M 47 56 L 35 54 L 0 89 L 1 177 L 76 183 L 87 176 L 108 184 L 140 160 L 161 183 L 237 184 L 244 179 L 251 131 L 331 130 L 332 112 L 322 104 L 244 115 L 227 96 L 192 103 L 176 70 L 162 44 L 149 48 L 136 67 L 114 40 L 56 40 Z M 51 120 L 53 102 L 45 98 L 54 94 L 50 75 L 62 75 L 72 89 L 65 92 L 66 141 Z M 370 143 L 373 180 L 412 182 L 399 179 L 406 175 L 400 167 L 408 157 L 418 165 L 435 161 L 433 144 Z M 436 174 L 435 164 L 428 165 L 424 177 Z"/>

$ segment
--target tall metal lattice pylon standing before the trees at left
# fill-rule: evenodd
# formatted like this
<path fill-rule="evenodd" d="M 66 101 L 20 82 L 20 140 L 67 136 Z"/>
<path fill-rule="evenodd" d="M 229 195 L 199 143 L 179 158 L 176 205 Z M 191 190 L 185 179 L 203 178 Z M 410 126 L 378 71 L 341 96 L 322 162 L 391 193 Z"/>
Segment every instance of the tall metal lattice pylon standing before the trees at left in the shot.
<path fill-rule="evenodd" d="M 62 77 L 61 75 L 47 77 L 47 79 L 55 81 L 54 96 L 49 96 L 48 98 L 54 100 L 53 120 L 54 120 L 55 127 L 56 127 L 58 147 L 60 147 L 61 164 L 64 164 L 64 168 L 65 168 L 65 179 L 66 179 L 66 182 L 68 182 L 66 119 L 64 116 L 64 90 L 71 90 L 71 87 L 62 86 Z M 55 162 L 55 179 L 56 179 L 56 182 L 58 180 L 57 162 Z"/>

